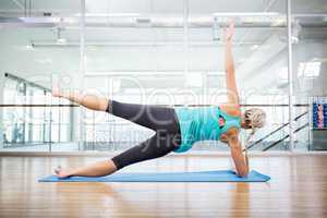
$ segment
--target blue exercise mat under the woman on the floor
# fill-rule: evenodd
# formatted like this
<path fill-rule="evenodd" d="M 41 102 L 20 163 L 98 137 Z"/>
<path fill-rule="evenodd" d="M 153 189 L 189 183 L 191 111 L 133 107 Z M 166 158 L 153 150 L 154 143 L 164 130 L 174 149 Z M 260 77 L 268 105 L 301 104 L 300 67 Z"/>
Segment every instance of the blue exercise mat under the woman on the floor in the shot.
<path fill-rule="evenodd" d="M 234 171 L 199 171 L 199 172 L 141 172 L 113 173 L 107 177 L 70 177 L 59 179 L 49 175 L 39 182 L 266 182 L 268 175 L 251 171 L 246 178 L 240 178 Z"/>

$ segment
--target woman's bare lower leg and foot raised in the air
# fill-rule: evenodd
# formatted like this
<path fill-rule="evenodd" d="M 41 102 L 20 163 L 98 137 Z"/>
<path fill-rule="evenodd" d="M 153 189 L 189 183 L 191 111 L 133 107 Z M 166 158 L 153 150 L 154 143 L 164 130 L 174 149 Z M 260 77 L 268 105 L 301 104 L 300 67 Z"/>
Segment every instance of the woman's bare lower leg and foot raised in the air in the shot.
<path fill-rule="evenodd" d="M 58 88 L 52 89 L 53 97 L 66 98 L 73 102 L 84 106 L 90 110 L 106 111 L 109 100 L 94 94 L 82 94 L 78 92 L 64 92 Z"/>

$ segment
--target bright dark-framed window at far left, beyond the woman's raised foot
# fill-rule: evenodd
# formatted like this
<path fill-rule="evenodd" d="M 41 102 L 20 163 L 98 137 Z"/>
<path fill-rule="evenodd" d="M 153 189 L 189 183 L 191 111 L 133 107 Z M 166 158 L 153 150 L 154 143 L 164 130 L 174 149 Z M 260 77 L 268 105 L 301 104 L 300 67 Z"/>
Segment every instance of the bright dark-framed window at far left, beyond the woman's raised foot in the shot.
<path fill-rule="evenodd" d="M 8 76 L 4 83 L 4 104 L 38 105 L 53 104 L 51 95 L 41 86 L 16 76 Z M 68 101 L 60 101 L 68 104 Z M 3 110 L 3 135 L 7 147 L 20 144 L 69 142 L 71 110 L 65 107 L 13 107 Z M 50 134 L 51 130 L 51 134 Z M 24 144 L 23 144 L 24 143 Z"/>

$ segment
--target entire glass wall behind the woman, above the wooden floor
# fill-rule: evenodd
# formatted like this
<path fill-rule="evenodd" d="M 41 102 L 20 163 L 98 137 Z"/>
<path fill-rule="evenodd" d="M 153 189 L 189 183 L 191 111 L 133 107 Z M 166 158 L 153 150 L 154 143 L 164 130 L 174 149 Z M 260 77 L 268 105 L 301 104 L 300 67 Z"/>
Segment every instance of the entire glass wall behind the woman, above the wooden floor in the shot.
<path fill-rule="evenodd" d="M 49 88 L 53 81 L 64 89 L 82 88 L 126 102 L 169 107 L 223 104 L 227 98 L 221 34 L 234 17 L 233 56 L 241 104 L 259 105 L 267 113 L 267 125 L 251 143 L 284 125 L 252 149 L 265 149 L 280 138 L 284 140 L 271 149 L 289 149 L 286 1 L 86 0 L 85 75 L 78 73 L 80 2 L 59 1 L 55 5 L 34 0 L 27 10 L 20 7 L 20 1 L 0 2 L 1 17 L 7 22 L 0 25 L 1 69 L 23 78 L 5 78 L 4 104 L 70 104 L 51 98 L 49 93 L 45 95 L 39 87 Z M 308 144 L 311 149 L 324 149 L 313 144 L 315 136 L 325 134 L 325 123 L 315 133 L 314 120 L 318 118 L 313 109 L 313 102 L 323 108 L 326 105 L 325 98 L 318 98 L 326 94 L 324 3 L 325 0 L 292 0 L 293 112 L 300 116 L 295 122 L 295 148 L 302 150 Z M 303 114 L 308 110 L 310 114 Z M 19 147 L 17 150 L 22 146 L 37 150 L 39 143 L 46 143 L 40 150 L 48 150 L 50 141 L 56 150 L 77 149 L 77 142 L 85 149 L 124 149 L 153 134 L 108 113 L 78 108 L 13 107 L 2 111 L 4 148 Z M 323 113 L 320 121 L 325 122 Z M 242 131 L 243 143 L 245 137 Z M 70 147 L 71 141 L 75 144 Z M 205 142 L 194 149 L 227 147 Z"/>

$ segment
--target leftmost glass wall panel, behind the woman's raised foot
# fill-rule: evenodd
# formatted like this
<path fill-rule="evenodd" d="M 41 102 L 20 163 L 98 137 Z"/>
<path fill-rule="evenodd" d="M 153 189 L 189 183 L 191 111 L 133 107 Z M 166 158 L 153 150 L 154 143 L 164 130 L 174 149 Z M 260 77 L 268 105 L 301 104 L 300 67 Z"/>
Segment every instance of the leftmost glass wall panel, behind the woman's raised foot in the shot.
<path fill-rule="evenodd" d="M 66 78 L 71 78 L 65 75 L 78 70 L 80 49 L 71 47 L 68 41 L 78 45 L 80 2 L 51 4 L 34 0 L 27 2 L 31 5 L 25 10 L 20 1 L 1 1 L 0 62 L 4 63 L 1 72 L 7 72 L 1 104 L 25 105 L 8 107 L 1 112 L 4 150 L 45 152 L 49 150 L 50 140 L 55 143 L 72 140 L 71 122 L 75 121 L 71 119 L 69 108 L 60 111 L 58 107 L 35 105 L 59 104 L 46 93 L 51 82 L 57 76 L 64 86 L 69 83 Z M 60 104 L 68 102 L 62 100 Z"/>

